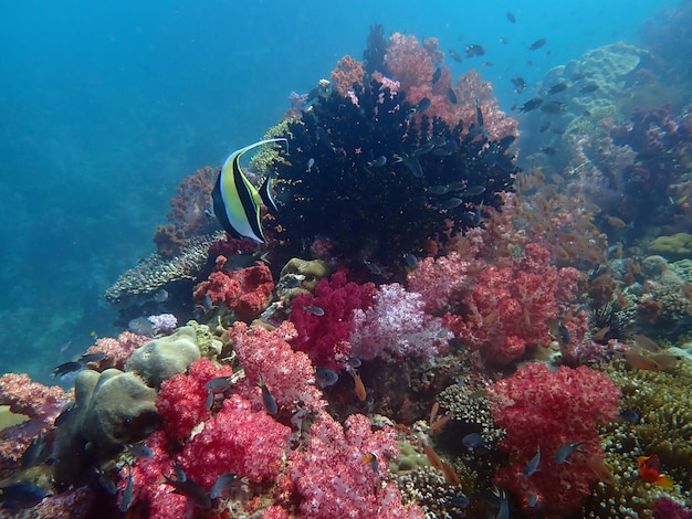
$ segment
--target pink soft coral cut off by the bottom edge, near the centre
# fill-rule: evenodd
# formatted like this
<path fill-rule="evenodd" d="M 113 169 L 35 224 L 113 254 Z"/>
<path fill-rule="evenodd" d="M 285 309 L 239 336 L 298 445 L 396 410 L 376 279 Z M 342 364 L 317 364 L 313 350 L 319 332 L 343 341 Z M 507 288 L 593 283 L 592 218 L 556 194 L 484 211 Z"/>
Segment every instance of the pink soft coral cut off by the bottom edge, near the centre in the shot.
<path fill-rule="evenodd" d="M 423 517 L 417 506 L 401 505 L 392 483 L 384 483 L 387 459 L 399 454 L 390 427 L 373 433 L 368 419 L 361 414 L 349 416 L 342 427 L 322 412 L 310 435 L 304 453 L 291 453 L 291 474 L 303 496 L 301 517 Z"/>

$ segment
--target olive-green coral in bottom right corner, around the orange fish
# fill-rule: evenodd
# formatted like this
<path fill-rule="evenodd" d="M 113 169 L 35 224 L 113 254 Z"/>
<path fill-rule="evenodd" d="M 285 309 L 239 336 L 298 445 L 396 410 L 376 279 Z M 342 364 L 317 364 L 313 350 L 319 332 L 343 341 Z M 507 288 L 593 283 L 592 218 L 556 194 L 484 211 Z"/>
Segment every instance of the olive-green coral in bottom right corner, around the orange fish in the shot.
<path fill-rule="evenodd" d="M 585 501 L 583 517 L 650 517 L 662 496 L 689 502 L 692 363 L 682 360 L 665 371 L 644 371 L 617 361 L 602 369 L 622 390 L 621 409 L 633 411 L 638 420 L 602 427 L 605 463 L 616 484 L 598 484 Z M 661 460 L 661 473 L 673 479 L 672 488 L 641 480 L 637 457 L 652 454 Z"/>

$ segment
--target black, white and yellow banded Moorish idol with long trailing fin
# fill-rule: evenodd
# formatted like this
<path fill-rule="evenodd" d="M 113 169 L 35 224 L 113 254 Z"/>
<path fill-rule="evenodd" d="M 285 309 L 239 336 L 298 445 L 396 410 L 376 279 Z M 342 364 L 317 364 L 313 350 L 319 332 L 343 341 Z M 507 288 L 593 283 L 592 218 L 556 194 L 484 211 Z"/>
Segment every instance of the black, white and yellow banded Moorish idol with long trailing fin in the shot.
<path fill-rule="evenodd" d="M 269 177 L 258 191 L 243 174 L 240 168 L 240 157 L 258 146 L 281 140 L 287 142 L 283 138 L 260 140 L 233 151 L 223 162 L 221 172 L 217 178 L 217 184 L 211 192 L 213 212 L 224 231 L 235 237 L 247 236 L 255 242 L 265 243 L 266 239 L 260 221 L 260 205 L 263 203 L 276 210 L 276 204 L 269 190 Z"/>

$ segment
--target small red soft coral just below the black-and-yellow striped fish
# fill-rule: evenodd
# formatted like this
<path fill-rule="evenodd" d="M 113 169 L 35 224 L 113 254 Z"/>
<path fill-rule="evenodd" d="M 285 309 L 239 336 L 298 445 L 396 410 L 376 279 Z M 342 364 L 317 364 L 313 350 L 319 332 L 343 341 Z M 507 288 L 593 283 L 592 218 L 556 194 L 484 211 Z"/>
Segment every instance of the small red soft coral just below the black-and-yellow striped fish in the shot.
<path fill-rule="evenodd" d="M 264 264 L 227 271 L 223 268 L 227 261 L 226 256 L 217 257 L 216 271 L 197 286 L 195 299 L 202 301 L 209 296 L 214 305 L 224 303 L 239 319 L 249 322 L 259 317 L 269 304 L 274 289 L 272 273 Z"/>

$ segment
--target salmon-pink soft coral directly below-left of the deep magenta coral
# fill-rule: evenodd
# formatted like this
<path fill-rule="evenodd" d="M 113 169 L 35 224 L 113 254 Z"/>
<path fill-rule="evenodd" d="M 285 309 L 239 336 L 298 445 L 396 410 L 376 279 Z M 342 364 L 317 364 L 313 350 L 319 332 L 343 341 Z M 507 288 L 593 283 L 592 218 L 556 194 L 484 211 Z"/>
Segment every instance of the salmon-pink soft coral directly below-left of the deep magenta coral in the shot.
<path fill-rule="evenodd" d="M 305 405 L 317 410 L 326 405 L 315 386 L 315 370 L 310 358 L 302 351 L 293 351 L 289 343 L 297 336 L 291 322 L 284 321 L 272 331 L 262 327 L 248 330 L 248 325 L 237 322 L 229 335 L 245 372 L 235 391 L 253 402 L 255 409 L 263 405 L 262 391 L 256 385 L 260 375 L 280 409 L 295 411 L 298 405 Z"/>

